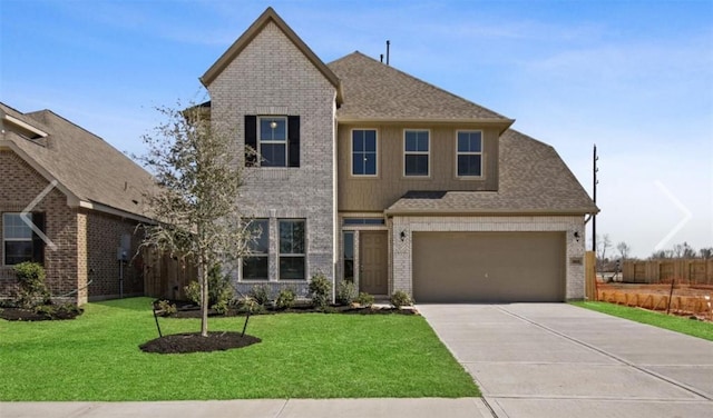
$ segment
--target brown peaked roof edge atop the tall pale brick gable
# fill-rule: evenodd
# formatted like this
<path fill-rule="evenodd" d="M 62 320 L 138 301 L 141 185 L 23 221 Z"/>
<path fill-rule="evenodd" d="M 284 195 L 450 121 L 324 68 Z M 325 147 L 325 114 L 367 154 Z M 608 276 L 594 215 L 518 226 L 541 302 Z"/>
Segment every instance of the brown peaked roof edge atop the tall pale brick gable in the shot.
<path fill-rule="evenodd" d="M 284 20 L 275 12 L 271 7 L 251 24 L 250 28 L 240 37 L 231 48 L 228 48 L 217 61 L 201 77 L 203 86 L 211 84 L 223 70 L 247 47 L 253 39 L 265 28 L 270 22 L 273 22 L 280 28 L 280 30 L 294 43 L 295 47 L 314 64 L 314 67 L 324 76 L 336 89 L 336 103 L 342 102 L 342 89 L 339 78 L 330 70 L 324 62 L 307 47 L 306 43 L 285 23 Z"/>

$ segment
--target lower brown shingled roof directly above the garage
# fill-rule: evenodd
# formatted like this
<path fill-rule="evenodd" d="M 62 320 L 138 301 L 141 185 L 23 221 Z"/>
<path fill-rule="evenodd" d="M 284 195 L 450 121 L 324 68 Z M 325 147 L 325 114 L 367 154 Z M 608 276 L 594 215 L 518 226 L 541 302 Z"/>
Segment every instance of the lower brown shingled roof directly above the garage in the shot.
<path fill-rule="evenodd" d="M 408 192 L 388 215 L 597 213 L 555 149 L 516 130 L 500 136 L 498 191 Z"/>

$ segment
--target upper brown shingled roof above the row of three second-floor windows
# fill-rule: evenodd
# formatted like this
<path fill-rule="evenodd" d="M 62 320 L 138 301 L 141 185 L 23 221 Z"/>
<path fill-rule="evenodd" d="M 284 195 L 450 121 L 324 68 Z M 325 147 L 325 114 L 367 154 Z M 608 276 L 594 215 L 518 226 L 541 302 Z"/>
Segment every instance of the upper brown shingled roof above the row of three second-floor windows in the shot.
<path fill-rule="evenodd" d="M 502 131 L 514 122 L 359 51 L 328 67 L 344 91 L 344 102 L 336 111 L 339 121 L 490 122 L 502 126 Z"/>

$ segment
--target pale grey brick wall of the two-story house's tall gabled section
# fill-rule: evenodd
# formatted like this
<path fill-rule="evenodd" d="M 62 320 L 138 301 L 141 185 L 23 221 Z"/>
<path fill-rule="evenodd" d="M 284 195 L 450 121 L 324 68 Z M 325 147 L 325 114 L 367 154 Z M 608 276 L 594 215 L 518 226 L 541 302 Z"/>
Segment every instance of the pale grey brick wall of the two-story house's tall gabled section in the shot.
<path fill-rule="evenodd" d="M 300 116 L 300 168 L 248 168 L 237 209 L 247 216 L 306 219 L 306 276 L 334 277 L 334 87 L 268 23 L 208 87 L 212 120 L 237 138 L 244 166 L 244 116 Z M 271 228 L 270 277 L 277 280 L 277 235 Z M 237 269 L 234 270 L 237 280 Z M 254 282 L 240 285 L 248 289 Z M 293 283 L 302 287 L 300 283 Z"/>

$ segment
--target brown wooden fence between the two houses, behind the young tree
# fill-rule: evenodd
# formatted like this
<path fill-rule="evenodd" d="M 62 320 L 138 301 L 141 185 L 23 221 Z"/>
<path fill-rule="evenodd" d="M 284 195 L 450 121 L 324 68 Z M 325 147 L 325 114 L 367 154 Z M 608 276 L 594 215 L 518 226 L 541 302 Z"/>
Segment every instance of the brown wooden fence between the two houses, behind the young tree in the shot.
<path fill-rule="evenodd" d="M 159 299 L 186 299 L 184 287 L 198 277 L 194 263 L 156 249 L 144 250 L 144 293 Z"/>

